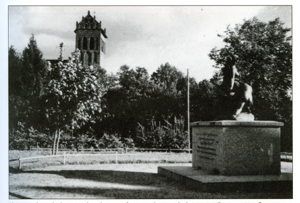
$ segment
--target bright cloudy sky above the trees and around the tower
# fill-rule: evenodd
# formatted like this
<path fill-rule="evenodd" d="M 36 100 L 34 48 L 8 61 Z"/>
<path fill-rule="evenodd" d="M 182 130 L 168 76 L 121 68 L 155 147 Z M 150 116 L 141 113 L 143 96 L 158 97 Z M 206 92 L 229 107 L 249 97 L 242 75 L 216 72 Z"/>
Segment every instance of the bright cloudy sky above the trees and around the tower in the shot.
<path fill-rule="evenodd" d="M 145 67 L 150 74 L 168 62 L 197 82 L 212 77 L 208 53 L 224 46 L 226 27 L 256 16 L 268 22 L 279 17 L 291 27 L 291 6 L 8 6 L 8 45 L 17 52 L 31 34 L 45 59 L 67 59 L 75 49 L 75 26 L 90 11 L 106 28 L 105 65 L 116 73 L 121 65 Z"/>

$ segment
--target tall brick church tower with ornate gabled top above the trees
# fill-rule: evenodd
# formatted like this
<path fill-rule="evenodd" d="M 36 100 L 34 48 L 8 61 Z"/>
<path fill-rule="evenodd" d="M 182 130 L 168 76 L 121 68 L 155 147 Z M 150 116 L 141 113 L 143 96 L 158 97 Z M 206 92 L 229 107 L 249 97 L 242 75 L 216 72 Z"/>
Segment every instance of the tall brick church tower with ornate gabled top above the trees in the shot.
<path fill-rule="evenodd" d="M 101 21 L 97 22 L 95 16 L 91 16 L 89 11 L 82 20 L 76 22 L 76 48 L 81 52 L 83 65 L 93 63 L 104 65 L 105 39 L 107 38 L 105 29 L 101 28 Z"/>

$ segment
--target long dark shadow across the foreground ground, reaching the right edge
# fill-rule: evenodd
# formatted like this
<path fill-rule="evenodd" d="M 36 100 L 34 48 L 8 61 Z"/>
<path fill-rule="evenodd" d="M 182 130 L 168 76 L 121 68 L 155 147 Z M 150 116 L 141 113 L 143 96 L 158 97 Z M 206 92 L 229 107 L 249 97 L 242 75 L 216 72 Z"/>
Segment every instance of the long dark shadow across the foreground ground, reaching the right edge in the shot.
<path fill-rule="evenodd" d="M 51 192 L 67 194 L 97 195 L 102 198 L 292 198 L 291 190 L 273 188 L 273 191 L 261 191 L 260 185 L 252 185 L 253 191 L 241 187 L 227 185 L 219 188 L 217 185 L 202 190 L 202 186 L 186 186 L 184 182 L 177 182 L 169 177 L 148 172 L 130 172 L 115 170 L 18 170 L 9 168 L 10 173 L 39 173 L 55 174 L 69 179 L 91 180 L 95 182 L 128 185 L 120 187 L 80 187 L 80 186 L 29 186 Z M 132 186 L 130 188 L 130 186 Z M 138 188 L 140 186 L 140 189 Z M 257 187 L 258 186 L 258 187 Z M 270 188 L 272 186 L 270 185 Z M 138 188 L 138 189 L 136 189 Z M 248 188 L 248 187 L 247 187 Z M 254 189 L 256 188 L 256 189 Z M 257 190 L 258 188 L 258 190 Z"/>

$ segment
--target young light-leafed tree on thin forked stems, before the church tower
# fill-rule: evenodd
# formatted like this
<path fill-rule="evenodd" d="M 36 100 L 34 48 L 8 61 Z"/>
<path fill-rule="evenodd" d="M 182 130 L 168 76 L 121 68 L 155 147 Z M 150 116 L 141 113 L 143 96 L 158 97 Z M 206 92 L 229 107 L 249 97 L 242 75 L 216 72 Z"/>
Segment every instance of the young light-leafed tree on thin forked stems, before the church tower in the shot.
<path fill-rule="evenodd" d="M 93 66 L 82 66 L 79 58 L 80 51 L 76 49 L 67 63 L 60 60 L 48 66 L 44 113 L 50 131 L 55 133 L 54 144 L 58 133 L 57 145 L 62 130 L 72 132 L 87 122 L 94 122 L 93 115 L 101 111 L 96 70 Z"/>

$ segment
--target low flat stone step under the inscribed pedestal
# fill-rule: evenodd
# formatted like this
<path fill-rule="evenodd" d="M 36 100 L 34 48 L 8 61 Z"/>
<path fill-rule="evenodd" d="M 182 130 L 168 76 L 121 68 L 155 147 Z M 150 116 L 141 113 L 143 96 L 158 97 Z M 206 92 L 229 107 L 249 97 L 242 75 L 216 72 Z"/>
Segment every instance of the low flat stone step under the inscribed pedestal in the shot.
<path fill-rule="evenodd" d="M 280 175 L 219 175 L 191 166 L 158 166 L 158 174 L 200 191 L 292 191 L 292 173 Z"/>

